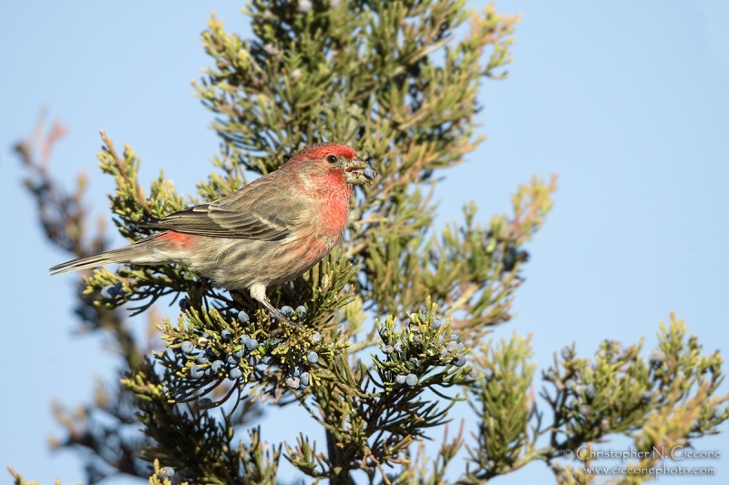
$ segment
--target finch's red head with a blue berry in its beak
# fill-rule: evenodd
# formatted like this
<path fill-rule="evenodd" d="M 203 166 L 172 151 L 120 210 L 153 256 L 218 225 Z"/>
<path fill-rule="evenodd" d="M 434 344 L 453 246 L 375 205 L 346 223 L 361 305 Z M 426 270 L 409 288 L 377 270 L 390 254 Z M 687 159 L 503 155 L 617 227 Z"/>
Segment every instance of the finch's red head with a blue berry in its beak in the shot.
<path fill-rule="evenodd" d="M 354 148 L 341 143 L 324 142 L 305 147 L 286 164 L 318 187 L 351 187 L 370 182 L 377 171 L 357 156 Z M 284 166 L 285 167 L 285 166 Z"/>

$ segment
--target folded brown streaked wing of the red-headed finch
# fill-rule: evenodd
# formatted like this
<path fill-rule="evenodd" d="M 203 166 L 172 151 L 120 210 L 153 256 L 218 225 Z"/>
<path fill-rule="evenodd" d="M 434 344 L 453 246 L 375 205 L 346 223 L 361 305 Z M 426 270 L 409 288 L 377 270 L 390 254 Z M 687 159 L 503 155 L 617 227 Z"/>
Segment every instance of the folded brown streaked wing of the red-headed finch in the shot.
<path fill-rule="evenodd" d="M 274 172 L 275 173 L 275 172 Z M 262 177 L 228 197 L 188 207 L 139 226 L 209 237 L 279 241 L 305 220 L 306 204 Z M 289 188 L 286 184 L 285 188 Z"/>

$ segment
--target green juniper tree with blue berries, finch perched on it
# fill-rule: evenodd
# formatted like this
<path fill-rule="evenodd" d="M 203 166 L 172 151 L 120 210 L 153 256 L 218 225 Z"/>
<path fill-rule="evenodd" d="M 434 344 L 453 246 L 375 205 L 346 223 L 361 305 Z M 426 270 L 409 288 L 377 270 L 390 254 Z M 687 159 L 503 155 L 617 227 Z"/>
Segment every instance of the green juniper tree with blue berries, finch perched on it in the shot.
<path fill-rule="evenodd" d="M 647 359 L 642 342 L 605 340 L 581 356 L 561 349 L 539 374 L 529 338 L 485 339 L 510 318 L 524 245 L 549 214 L 555 180 L 533 178 L 508 213 L 490 218 L 467 204 L 442 229 L 432 195 L 483 141 L 478 89 L 506 76 L 518 16 L 492 5 L 473 12 L 463 0 L 252 0 L 244 14 L 252 39 L 214 15 L 202 34 L 213 64 L 194 86 L 216 115 L 221 150 L 195 195 L 162 172 L 142 187 L 137 154 L 102 132 L 99 167 L 116 183 L 109 209 L 119 233 L 146 237 L 140 222 L 231 194 L 321 141 L 368 154 L 381 177 L 355 193 L 344 243 L 273 288 L 272 302 L 302 324 L 282 335 L 272 336 L 271 316 L 247 294 L 213 288 L 188 268 L 83 275 L 80 325 L 110 336 L 126 369 L 85 412 L 55 409 L 67 429 L 56 446 L 87 452 L 90 483 L 125 473 L 150 483 L 273 484 L 288 479 L 277 476 L 282 459 L 297 479 L 336 484 L 479 484 L 535 460 L 560 483 L 587 483 L 590 460 L 562 460 L 564 450 L 616 435 L 638 450 L 685 445 L 729 417 L 729 398 L 715 395 L 723 360 L 703 355 L 673 315 Z M 46 237 L 89 256 L 108 242 L 89 233 L 85 182 L 67 193 L 39 156 L 60 135 L 55 127 L 45 146 L 17 150 Z M 173 301 L 179 311 L 155 305 Z M 140 313 L 161 339 L 135 338 L 129 316 Z M 449 409 L 468 405 L 471 438 L 461 428 L 423 446 Z M 325 440 L 293 430 L 284 443 L 264 441 L 262 412 L 292 406 L 311 414 Z"/>

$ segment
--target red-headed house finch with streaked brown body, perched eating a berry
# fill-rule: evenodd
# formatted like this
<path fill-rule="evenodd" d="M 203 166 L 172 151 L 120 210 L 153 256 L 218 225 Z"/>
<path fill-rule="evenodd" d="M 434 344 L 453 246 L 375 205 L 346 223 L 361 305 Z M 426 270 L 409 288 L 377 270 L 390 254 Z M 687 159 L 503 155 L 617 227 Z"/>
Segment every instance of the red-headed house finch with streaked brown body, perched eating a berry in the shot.
<path fill-rule="evenodd" d="M 159 234 L 50 271 L 179 263 L 216 286 L 248 288 L 276 318 L 289 321 L 268 301 L 266 288 L 301 276 L 334 248 L 347 225 L 354 185 L 376 175 L 351 147 L 306 147 L 228 197 L 139 224 Z"/>

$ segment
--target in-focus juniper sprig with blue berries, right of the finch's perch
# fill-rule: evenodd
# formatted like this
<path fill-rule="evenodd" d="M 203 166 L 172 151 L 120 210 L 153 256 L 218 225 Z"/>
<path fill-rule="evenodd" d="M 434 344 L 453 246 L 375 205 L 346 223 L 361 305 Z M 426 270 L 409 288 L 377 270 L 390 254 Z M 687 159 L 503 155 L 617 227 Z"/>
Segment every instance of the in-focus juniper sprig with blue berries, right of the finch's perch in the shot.
<path fill-rule="evenodd" d="M 400 455 L 413 440 L 425 437 L 426 429 L 447 421 L 447 410 L 437 400 L 426 399 L 426 390 L 444 396 L 439 389 L 450 388 L 467 379 L 468 368 L 454 365 L 464 351 L 447 351 L 452 328 L 433 328 L 436 306 L 426 302 L 425 314 L 410 316 L 407 328 L 396 329 L 395 319 L 375 323 L 385 358 L 374 356 L 372 366 L 358 360 L 354 369 L 348 359 L 324 359 L 317 372 L 320 382 L 311 387 L 312 402 L 298 396 L 313 419 L 336 443 L 328 460 L 308 452 L 300 440 L 298 450 L 288 448 L 293 465 L 316 478 L 335 479 L 346 464 L 360 468 L 375 480 L 375 470 L 384 463 L 400 462 Z M 386 347 L 391 347 L 386 349 Z M 446 349 L 446 351 L 444 351 Z M 397 376 L 413 376 L 415 382 L 398 382 Z M 325 409 L 325 412 L 322 410 Z"/>

